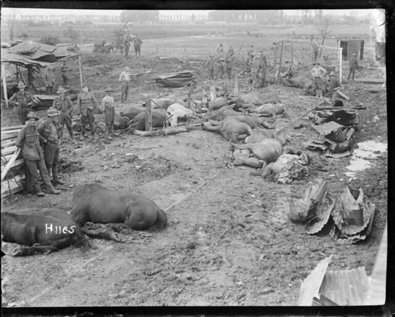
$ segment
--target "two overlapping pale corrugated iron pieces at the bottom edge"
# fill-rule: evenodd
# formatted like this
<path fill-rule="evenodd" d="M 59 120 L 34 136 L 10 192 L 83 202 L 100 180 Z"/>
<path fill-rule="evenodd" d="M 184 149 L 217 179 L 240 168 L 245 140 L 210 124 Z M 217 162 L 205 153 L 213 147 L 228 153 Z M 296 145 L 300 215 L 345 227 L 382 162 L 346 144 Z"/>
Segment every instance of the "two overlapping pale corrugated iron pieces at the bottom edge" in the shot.
<path fill-rule="evenodd" d="M 322 260 L 302 282 L 298 306 L 361 306 L 368 290 L 364 267 L 327 271 L 333 255 Z"/>

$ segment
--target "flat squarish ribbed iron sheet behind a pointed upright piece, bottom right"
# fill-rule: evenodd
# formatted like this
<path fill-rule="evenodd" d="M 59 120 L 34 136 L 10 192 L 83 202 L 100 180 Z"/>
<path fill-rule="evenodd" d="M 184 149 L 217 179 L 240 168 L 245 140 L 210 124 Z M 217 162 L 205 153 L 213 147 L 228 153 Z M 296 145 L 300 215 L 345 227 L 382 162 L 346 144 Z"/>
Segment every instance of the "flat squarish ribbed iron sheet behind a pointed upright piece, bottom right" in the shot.
<path fill-rule="evenodd" d="M 365 267 L 352 270 L 328 271 L 320 293 L 340 306 L 362 306 L 368 288 Z"/>

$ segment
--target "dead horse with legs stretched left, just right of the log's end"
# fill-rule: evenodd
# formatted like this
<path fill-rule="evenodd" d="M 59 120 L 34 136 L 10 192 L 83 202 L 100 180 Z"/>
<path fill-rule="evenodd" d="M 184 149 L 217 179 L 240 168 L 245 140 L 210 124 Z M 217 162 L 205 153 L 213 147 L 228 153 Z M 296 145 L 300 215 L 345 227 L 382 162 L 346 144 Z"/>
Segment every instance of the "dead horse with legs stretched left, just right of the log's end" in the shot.
<path fill-rule="evenodd" d="M 220 132 L 228 141 L 238 142 L 244 140 L 252 129 L 245 122 L 240 122 L 232 116 L 224 118 L 221 122 L 202 123 L 203 130 Z"/>

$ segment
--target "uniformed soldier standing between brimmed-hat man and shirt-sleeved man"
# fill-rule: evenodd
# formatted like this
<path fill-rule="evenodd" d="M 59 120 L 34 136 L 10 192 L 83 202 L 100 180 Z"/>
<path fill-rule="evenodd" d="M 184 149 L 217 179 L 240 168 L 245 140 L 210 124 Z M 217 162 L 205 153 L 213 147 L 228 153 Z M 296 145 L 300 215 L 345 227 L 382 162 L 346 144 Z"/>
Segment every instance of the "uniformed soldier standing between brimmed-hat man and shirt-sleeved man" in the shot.
<path fill-rule="evenodd" d="M 89 124 L 92 137 L 94 137 L 94 115 L 93 110 L 96 106 L 96 98 L 93 93 L 88 91 L 88 87 L 82 89 L 78 95 L 77 113 L 81 114 L 81 137 L 80 141 L 85 139 L 86 125 Z"/>

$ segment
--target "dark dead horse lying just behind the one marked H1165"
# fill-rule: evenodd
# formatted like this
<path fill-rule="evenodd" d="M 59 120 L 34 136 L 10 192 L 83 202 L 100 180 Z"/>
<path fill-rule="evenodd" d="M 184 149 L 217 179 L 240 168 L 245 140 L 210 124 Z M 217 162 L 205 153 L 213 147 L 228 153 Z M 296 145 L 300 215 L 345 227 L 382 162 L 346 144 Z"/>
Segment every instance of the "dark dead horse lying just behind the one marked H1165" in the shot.
<path fill-rule="evenodd" d="M 125 223 L 133 230 L 160 230 L 167 226 L 166 213 L 146 196 L 107 189 L 98 184 L 77 188 L 71 216 L 80 226 L 86 222 Z"/>

